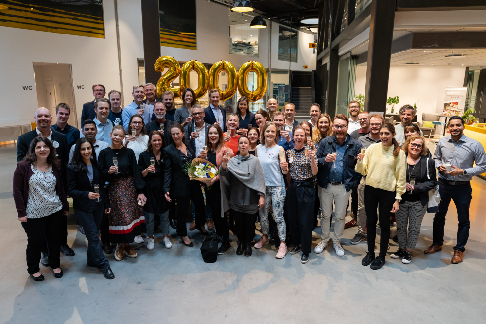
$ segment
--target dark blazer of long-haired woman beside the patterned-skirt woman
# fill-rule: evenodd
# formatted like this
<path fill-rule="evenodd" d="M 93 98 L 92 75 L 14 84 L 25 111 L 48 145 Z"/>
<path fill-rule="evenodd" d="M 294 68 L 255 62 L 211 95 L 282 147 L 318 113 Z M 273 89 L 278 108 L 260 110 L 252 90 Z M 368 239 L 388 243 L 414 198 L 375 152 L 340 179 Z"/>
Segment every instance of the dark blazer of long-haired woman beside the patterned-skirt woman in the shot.
<path fill-rule="evenodd" d="M 100 185 L 100 202 L 96 202 L 94 199 L 89 199 L 88 194 L 90 192 L 95 192 L 93 185 L 89 183 L 89 178 L 87 173 L 82 174 L 81 172 L 74 171 L 74 168 L 69 165 L 66 170 L 66 176 L 68 178 L 68 196 L 72 197 L 72 207 L 84 211 L 85 213 L 90 213 L 95 209 L 110 208 L 110 202 L 108 200 L 108 195 L 104 190 L 104 181 L 101 174 L 100 167 L 96 167 L 93 164 L 93 183 Z"/>

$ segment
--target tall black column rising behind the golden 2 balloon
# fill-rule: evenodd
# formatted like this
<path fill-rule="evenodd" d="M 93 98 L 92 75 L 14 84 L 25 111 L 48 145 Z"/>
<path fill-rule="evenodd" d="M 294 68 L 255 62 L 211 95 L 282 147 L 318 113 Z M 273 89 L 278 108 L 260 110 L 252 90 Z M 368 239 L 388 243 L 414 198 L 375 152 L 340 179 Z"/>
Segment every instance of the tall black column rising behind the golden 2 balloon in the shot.
<path fill-rule="evenodd" d="M 157 84 L 160 72 L 154 64 L 160 57 L 160 19 L 158 0 L 141 0 L 143 29 L 143 59 L 145 61 L 145 83 Z"/>

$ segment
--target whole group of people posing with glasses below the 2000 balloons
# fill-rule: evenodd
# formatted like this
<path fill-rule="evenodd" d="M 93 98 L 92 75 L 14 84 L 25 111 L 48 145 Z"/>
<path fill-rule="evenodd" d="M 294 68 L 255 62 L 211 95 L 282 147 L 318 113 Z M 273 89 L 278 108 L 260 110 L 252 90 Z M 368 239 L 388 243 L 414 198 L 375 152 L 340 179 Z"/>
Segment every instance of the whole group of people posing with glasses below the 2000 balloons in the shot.
<path fill-rule="evenodd" d="M 215 231 L 223 240 L 219 255 L 231 249 L 231 230 L 238 238 L 237 255 L 251 256 L 253 248 L 273 239 L 276 258 L 300 252 L 307 263 L 317 219 L 321 241 L 315 253 L 330 244 L 334 219 L 335 254 L 345 255 L 344 229 L 357 227 L 351 244 L 367 234 L 362 264 L 379 269 L 393 220 L 399 249 L 391 257 L 411 262 L 429 191 L 439 191 L 433 244 L 425 253 L 441 250 L 452 199 L 459 219 L 452 262 L 463 260 L 470 180 L 486 171 L 486 157 L 481 144 L 463 134 L 460 117 L 449 120 L 451 136 L 440 139 L 433 158 L 412 123 L 416 111 L 410 105 L 400 109 L 401 123 L 395 126 L 380 114 L 361 111 L 357 101 L 349 103 L 349 118 L 331 118 L 312 104 L 311 119 L 299 123 L 295 106 L 288 103 L 279 111 L 275 99 L 267 101 L 267 110 L 252 113 L 249 100 L 241 97 L 236 113 L 226 116 L 217 89 L 209 91 L 207 108 L 197 104 L 191 88 L 182 91 L 177 109 L 172 92 L 156 100 L 151 84 L 135 85 L 133 102 L 122 110 L 119 91 L 110 91 L 108 99 L 104 94 L 103 85 L 93 86 L 95 100 L 83 107 L 81 132 L 67 124 L 70 109 L 61 103 L 56 124 L 51 126 L 49 110 L 39 108 L 37 128 L 18 138 L 14 199 L 28 239 L 28 273 L 35 281 L 44 279 L 39 260 L 60 278 L 59 251 L 74 256 L 67 244 L 67 197 L 78 230 L 87 237 L 87 266 L 101 269 L 107 279 L 114 274 L 105 254 L 114 250 L 117 261 L 135 258 L 130 244 L 145 243 L 143 236 L 147 249 L 154 249 L 158 227 L 166 248 L 172 247 L 169 227 L 183 245 L 193 247 L 186 226 L 190 201 L 189 230 Z M 191 180 L 186 169 L 194 158 L 211 162 L 219 173 L 206 184 Z M 350 197 L 353 219 L 345 223 Z M 257 220 L 262 236 L 253 242 Z"/>

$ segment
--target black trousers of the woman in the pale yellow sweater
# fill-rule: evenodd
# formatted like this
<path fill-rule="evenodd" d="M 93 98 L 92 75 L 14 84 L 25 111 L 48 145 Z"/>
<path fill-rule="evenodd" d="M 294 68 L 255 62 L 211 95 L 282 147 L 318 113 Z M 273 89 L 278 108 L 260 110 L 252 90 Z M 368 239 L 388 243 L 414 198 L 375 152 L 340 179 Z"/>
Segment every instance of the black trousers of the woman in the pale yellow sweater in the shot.
<path fill-rule="evenodd" d="M 364 185 L 364 209 L 368 222 L 368 253 L 375 255 L 377 208 L 380 210 L 380 253 L 384 259 L 390 240 L 390 211 L 395 203 L 395 191 L 387 191 Z"/>

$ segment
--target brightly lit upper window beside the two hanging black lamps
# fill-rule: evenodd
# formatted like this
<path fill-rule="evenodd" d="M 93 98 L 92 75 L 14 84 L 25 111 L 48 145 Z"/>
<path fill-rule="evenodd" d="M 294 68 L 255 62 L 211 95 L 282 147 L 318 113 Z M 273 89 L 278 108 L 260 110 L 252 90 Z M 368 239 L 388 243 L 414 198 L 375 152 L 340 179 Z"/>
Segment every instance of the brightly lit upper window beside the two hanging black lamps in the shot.
<path fill-rule="evenodd" d="M 250 28 L 253 16 L 228 9 L 229 53 L 258 57 L 258 29 Z"/>

